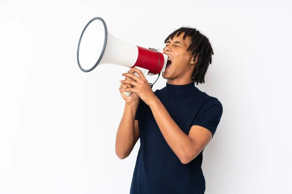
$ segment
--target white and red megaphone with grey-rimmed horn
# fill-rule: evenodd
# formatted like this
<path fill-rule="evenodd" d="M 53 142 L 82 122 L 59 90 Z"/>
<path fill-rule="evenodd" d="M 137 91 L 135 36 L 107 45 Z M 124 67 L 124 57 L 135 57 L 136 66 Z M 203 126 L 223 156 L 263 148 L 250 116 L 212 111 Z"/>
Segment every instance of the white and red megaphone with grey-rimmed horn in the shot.
<path fill-rule="evenodd" d="M 95 20 L 101 21 L 102 25 L 92 23 Z M 113 64 L 138 68 L 144 76 L 156 75 L 165 71 L 167 58 L 159 49 L 146 49 L 113 36 L 101 17 L 94 17 L 87 23 L 77 48 L 77 63 L 83 72 L 90 72 L 97 65 Z M 139 77 L 136 72 L 134 74 Z M 131 92 L 124 94 L 129 96 Z"/>

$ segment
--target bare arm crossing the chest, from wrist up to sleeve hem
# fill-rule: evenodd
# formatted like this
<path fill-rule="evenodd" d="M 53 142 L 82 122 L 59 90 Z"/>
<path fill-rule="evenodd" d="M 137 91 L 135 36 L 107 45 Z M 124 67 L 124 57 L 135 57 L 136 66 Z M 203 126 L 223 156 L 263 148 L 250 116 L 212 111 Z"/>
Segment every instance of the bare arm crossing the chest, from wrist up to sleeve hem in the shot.
<path fill-rule="evenodd" d="M 212 133 L 201 126 L 192 126 L 186 135 L 158 98 L 149 107 L 164 139 L 183 164 L 196 158 L 212 139 Z"/>

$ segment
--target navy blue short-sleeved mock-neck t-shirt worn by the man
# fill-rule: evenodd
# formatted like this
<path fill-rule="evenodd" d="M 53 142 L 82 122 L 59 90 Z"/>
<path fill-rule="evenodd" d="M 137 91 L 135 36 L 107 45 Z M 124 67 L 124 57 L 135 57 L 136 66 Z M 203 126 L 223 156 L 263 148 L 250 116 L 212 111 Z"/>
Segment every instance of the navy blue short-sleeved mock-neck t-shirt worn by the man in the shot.
<path fill-rule="evenodd" d="M 166 83 L 154 93 L 185 134 L 193 125 L 199 125 L 214 135 L 223 111 L 217 98 L 201 92 L 194 82 Z M 141 99 L 135 119 L 139 123 L 140 149 L 130 194 L 204 194 L 202 152 L 183 164 L 165 141 L 151 109 Z"/>

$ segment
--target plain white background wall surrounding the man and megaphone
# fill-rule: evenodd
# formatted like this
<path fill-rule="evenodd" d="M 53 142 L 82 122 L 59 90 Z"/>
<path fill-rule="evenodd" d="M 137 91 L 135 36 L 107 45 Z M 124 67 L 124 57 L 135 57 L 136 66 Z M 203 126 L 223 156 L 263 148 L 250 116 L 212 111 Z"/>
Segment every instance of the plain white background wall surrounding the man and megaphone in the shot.
<path fill-rule="evenodd" d="M 224 108 L 204 151 L 206 194 L 292 193 L 288 0 L 1 0 L 0 194 L 129 192 L 139 142 L 125 160 L 114 149 L 128 68 L 84 73 L 76 60 L 95 16 L 146 48 L 181 26 L 205 34 L 215 55 L 198 87 Z"/>

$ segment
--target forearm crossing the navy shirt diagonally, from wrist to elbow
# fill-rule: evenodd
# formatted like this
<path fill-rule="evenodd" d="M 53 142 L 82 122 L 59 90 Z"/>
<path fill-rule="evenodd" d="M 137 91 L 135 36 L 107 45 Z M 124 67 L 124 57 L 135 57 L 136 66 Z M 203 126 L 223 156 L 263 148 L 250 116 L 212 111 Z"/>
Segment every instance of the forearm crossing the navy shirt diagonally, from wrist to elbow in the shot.
<path fill-rule="evenodd" d="M 157 97 L 149 107 L 167 144 L 181 162 L 189 162 L 194 148 L 192 139 L 180 129 Z"/>

